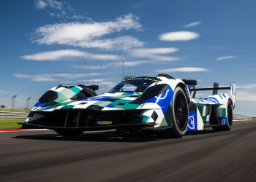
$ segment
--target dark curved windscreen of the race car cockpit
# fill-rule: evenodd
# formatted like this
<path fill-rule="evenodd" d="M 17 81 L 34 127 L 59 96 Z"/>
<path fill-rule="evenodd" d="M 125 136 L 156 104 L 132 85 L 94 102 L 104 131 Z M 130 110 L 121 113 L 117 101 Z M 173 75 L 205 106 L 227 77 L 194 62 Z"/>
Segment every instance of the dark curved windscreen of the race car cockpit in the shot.
<path fill-rule="evenodd" d="M 149 85 L 157 81 L 159 81 L 159 79 L 154 77 L 135 77 L 126 79 L 108 92 L 144 92 Z"/>

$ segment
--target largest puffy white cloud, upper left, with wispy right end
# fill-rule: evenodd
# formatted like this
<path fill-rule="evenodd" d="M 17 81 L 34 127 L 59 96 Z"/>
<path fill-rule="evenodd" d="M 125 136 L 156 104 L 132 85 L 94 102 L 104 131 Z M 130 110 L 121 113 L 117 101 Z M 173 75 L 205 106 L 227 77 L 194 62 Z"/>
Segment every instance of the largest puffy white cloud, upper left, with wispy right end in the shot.
<path fill-rule="evenodd" d="M 102 39 L 102 36 L 125 30 L 141 30 L 138 17 L 129 14 L 113 21 L 89 23 L 57 23 L 36 29 L 39 44 L 64 44 L 79 47 L 98 47 L 101 49 L 125 49 L 140 47 L 143 42 L 132 36 L 115 39 Z M 124 47 L 124 48 L 123 48 Z"/>

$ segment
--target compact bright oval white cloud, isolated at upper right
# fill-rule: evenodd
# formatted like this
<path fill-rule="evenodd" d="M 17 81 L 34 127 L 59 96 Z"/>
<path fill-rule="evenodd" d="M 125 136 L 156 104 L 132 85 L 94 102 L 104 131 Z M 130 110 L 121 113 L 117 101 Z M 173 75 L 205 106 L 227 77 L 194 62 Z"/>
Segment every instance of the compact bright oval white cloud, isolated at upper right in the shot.
<path fill-rule="evenodd" d="M 199 34 L 192 31 L 173 31 L 162 33 L 159 39 L 162 41 L 189 41 L 199 38 Z"/>

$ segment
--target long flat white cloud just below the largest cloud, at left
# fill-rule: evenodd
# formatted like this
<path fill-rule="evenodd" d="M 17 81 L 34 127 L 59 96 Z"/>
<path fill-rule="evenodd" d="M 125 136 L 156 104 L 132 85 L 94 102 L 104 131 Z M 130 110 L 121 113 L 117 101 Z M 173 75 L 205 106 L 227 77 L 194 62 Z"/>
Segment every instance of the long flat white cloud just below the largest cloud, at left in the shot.
<path fill-rule="evenodd" d="M 20 58 L 26 60 L 70 60 L 72 58 L 83 58 L 89 60 L 117 60 L 120 57 L 118 55 L 103 55 L 103 54 L 92 54 L 89 52 L 83 52 L 80 50 L 54 50 L 48 52 L 39 52 L 32 55 L 23 55 Z"/>

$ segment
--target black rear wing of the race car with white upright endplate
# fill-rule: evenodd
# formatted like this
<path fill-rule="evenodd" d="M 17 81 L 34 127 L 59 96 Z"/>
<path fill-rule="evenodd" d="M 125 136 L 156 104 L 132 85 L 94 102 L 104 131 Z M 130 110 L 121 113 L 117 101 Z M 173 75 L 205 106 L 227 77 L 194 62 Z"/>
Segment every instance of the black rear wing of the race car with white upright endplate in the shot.
<path fill-rule="evenodd" d="M 214 87 L 209 88 L 195 88 L 195 86 L 189 86 L 190 92 L 193 92 L 192 98 L 195 98 L 197 91 L 212 90 L 212 94 L 218 94 L 218 90 L 230 90 L 230 98 L 232 100 L 233 108 L 236 107 L 236 83 L 231 82 L 230 87 L 219 87 L 219 84 L 214 82 Z"/>

